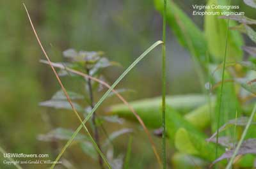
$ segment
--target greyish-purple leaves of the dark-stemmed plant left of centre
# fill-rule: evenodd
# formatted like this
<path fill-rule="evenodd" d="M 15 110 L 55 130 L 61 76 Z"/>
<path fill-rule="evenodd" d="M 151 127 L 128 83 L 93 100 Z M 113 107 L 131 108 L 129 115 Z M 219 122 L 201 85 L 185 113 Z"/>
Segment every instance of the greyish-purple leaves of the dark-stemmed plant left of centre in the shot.
<path fill-rule="evenodd" d="M 91 77 L 96 78 L 104 78 L 102 76 L 101 70 L 104 68 L 107 68 L 109 66 L 118 66 L 118 63 L 109 61 L 106 57 L 103 57 L 103 52 L 86 52 L 86 51 L 79 51 L 77 52 L 74 49 L 68 49 L 63 52 L 63 56 L 68 59 L 68 62 L 52 62 L 52 65 L 61 69 L 58 72 L 59 76 L 68 76 L 68 77 L 76 77 L 77 75 L 74 73 L 70 73 L 67 71 L 67 68 L 72 68 L 73 70 L 77 70 L 83 73 L 86 73 L 90 75 Z M 47 63 L 47 61 L 41 61 L 44 63 Z M 83 78 L 83 85 L 84 85 L 84 91 L 81 91 L 79 93 L 73 92 L 73 91 L 67 91 L 68 96 L 72 100 L 72 103 L 76 110 L 80 113 L 83 113 L 84 117 L 88 115 L 88 113 L 92 110 L 92 100 L 90 100 L 90 92 L 93 91 L 101 91 L 102 86 L 99 83 L 95 83 L 93 81 L 90 81 L 92 84 L 92 88 L 89 87 L 90 84 L 88 84 L 88 78 Z M 90 91 L 92 90 L 92 91 Z M 116 92 L 123 92 L 126 91 L 125 89 L 119 89 L 116 90 Z M 82 94 L 81 94 L 82 93 Z M 93 94 L 93 93 L 91 93 Z M 111 96 L 113 94 L 109 94 Z M 42 107 L 51 107 L 61 110 L 72 110 L 72 107 L 70 106 L 70 103 L 67 101 L 67 98 L 62 90 L 57 91 L 51 99 L 47 101 L 43 101 L 39 103 Z M 92 130 L 93 128 L 93 122 L 92 119 L 90 119 L 90 124 Z M 118 124 L 122 124 L 122 119 L 118 118 L 116 115 L 97 115 L 96 117 L 96 126 L 102 128 L 102 133 L 106 134 L 106 139 L 104 142 L 100 142 L 101 148 L 104 151 L 107 151 L 106 154 L 108 154 L 107 158 L 109 163 L 113 168 L 121 169 L 123 166 L 124 156 L 121 154 L 120 156 L 114 157 L 114 151 L 113 151 L 113 140 L 115 138 L 118 138 L 120 135 L 124 135 L 125 133 L 131 133 L 132 129 L 129 128 L 123 128 L 119 129 L 118 131 L 113 131 L 113 133 L 106 133 L 106 129 L 102 126 L 104 122 L 115 122 Z M 70 140 L 72 137 L 74 131 L 72 129 L 66 129 L 66 128 L 56 128 L 52 129 L 52 131 L 49 131 L 49 133 L 46 133 L 44 135 L 38 135 L 38 140 L 44 141 L 44 142 L 57 142 L 61 140 Z M 88 136 L 83 134 L 78 134 L 76 138 L 74 139 L 76 143 L 78 143 L 81 147 L 81 150 L 87 155 L 90 156 L 92 159 L 97 159 L 98 152 L 95 150 L 95 147 L 93 147 L 93 144 L 90 142 L 90 139 Z"/>

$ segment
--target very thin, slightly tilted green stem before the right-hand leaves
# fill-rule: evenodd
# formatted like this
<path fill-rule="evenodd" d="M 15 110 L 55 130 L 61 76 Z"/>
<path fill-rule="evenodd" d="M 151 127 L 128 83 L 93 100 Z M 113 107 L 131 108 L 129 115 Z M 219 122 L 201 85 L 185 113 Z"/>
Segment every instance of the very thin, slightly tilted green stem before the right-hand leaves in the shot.
<path fill-rule="evenodd" d="M 231 0 L 229 1 L 229 4 L 231 3 Z M 223 84 L 224 84 L 224 77 L 225 77 L 225 67 L 226 67 L 226 60 L 227 60 L 227 44 L 228 44 L 228 31 L 229 31 L 229 22 L 228 19 L 227 23 L 227 36 L 226 36 L 226 42 L 225 42 L 225 53 L 224 53 L 224 60 L 223 60 L 223 68 L 222 68 L 222 74 L 221 74 L 221 88 L 220 88 L 220 104 L 219 104 L 219 110 L 218 110 L 218 117 L 217 117 L 217 135 L 216 135 L 216 150 L 215 150 L 215 157 L 218 157 L 218 142 L 219 142 L 219 128 L 220 128 L 220 114 L 221 114 L 221 103 L 222 103 L 222 95 L 223 95 Z"/>

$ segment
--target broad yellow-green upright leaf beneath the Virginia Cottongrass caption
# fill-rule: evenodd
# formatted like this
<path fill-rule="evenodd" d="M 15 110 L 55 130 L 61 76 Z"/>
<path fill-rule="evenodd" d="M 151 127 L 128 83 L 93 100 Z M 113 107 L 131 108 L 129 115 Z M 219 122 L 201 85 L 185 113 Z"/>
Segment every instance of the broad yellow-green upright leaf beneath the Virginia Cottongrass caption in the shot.
<path fill-rule="evenodd" d="M 222 2 L 222 1 L 221 1 Z M 225 3 L 225 1 L 223 2 Z M 218 0 L 210 0 L 207 5 L 218 4 Z M 207 9 L 207 12 L 220 12 L 219 9 Z M 219 18 L 220 15 L 205 16 L 205 37 L 207 40 L 209 52 L 215 61 L 223 61 L 225 54 L 225 43 L 227 37 L 228 21 Z M 235 26 L 234 20 L 230 20 L 230 26 Z M 244 44 L 243 37 L 237 31 L 228 31 L 227 41 L 227 59 L 228 61 L 241 61 L 243 50 L 241 46 Z"/>

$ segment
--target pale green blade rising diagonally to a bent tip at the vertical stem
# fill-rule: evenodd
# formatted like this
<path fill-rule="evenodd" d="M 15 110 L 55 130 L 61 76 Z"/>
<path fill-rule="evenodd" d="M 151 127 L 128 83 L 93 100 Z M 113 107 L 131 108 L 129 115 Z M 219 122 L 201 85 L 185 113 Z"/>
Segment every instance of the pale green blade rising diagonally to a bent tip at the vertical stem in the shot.
<path fill-rule="evenodd" d="M 134 66 L 136 66 L 136 64 L 138 64 L 138 62 L 140 62 L 141 59 L 143 59 L 150 51 L 152 51 L 154 48 L 156 48 L 158 45 L 161 45 L 161 44 L 163 44 L 163 41 L 156 41 L 156 43 L 154 43 L 151 47 L 149 47 L 147 50 L 145 50 L 145 52 L 143 52 L 143 54 L 141 54 L 140 57 L 138 57 L 134 62 L 132 62 L 132 64 L 124 71 L 124 73 L 122 73 L 122 75 L 120 75 L 120 77 L 118 77 L 118 79 L 114 82 L 114 84 L 111 85 L 111 87 L 108 89 L 108 91 L 106 91 L 106 93 L 102 96 L 102 98 L 100 98 L 100 100 L 96 103 L 95 107 L 84 119 L 83 124 L 85 124 L 88 121 L 88 119 L 90 119 L 90 117 L 92 117 L 93 112 L 95 112 L 95 110 L 97 110 L 97 108 L 101 105 L 101 103 L 104 101 L 104 99 L 106 99 L 108 97 L 109 93 L 116 87 L 116 85 L 118 85 L 118 83 L 125 77 L 125 75 L 127 75 L 129 73 L 129 71 L 131 71 L 132 68 L 134 68 Z M 65 150 L 70 145 L 70 143 L 72 143 L 72 141 L 74 140 L 74 138 L 79 133 L 79 131 L 81 130 L 82 127 L 83 127 L 83 125 L 80 124 L 80 126 L 76 129 L 76 131 L 74 132 L 74 134 L 72 135 L 70 140 L 68 140 L 68 142 L 63 147 L 63 149 L 61 149 L 61 152 L 57 156 L 55 161 L 60 160 L 62 154 L 65 152 Z M 55 165 L 56 165 L 55 163 L 52 164 L 51 169 L 53 169 Z"/>

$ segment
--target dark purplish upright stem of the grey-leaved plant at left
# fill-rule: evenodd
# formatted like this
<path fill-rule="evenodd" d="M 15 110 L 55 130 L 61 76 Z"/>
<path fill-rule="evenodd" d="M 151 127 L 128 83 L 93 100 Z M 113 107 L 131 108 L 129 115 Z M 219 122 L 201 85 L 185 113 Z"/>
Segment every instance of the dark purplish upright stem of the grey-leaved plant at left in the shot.
<path fill-rule="evenodd" d="M 87 74 L 90 75 L 90 70 L 86 68 Z M 87 79 L 87 85 L 88 85 L 88 91 L 89 91 L 89 96 L 90 96 L 90 107 L 93 109 L 94 107 L 94 101 L 93 101 L 93 89 L 92 89 L 92 80 L 90 78 Z M 93 133 L 94 133 L 94 139 L 95 142 L 97 143 L 99 150 L 102 152 L 101 146 L 100 146 L 100 139 L 99 139 L 99 130 L 97 128 L 96 124 L 96 112 L 92 115 L 92 124 L 93 124 Z M 98 153 L 98 161 L 101 169 L 104 169 L 103 166 L 103 161 Z"/>

